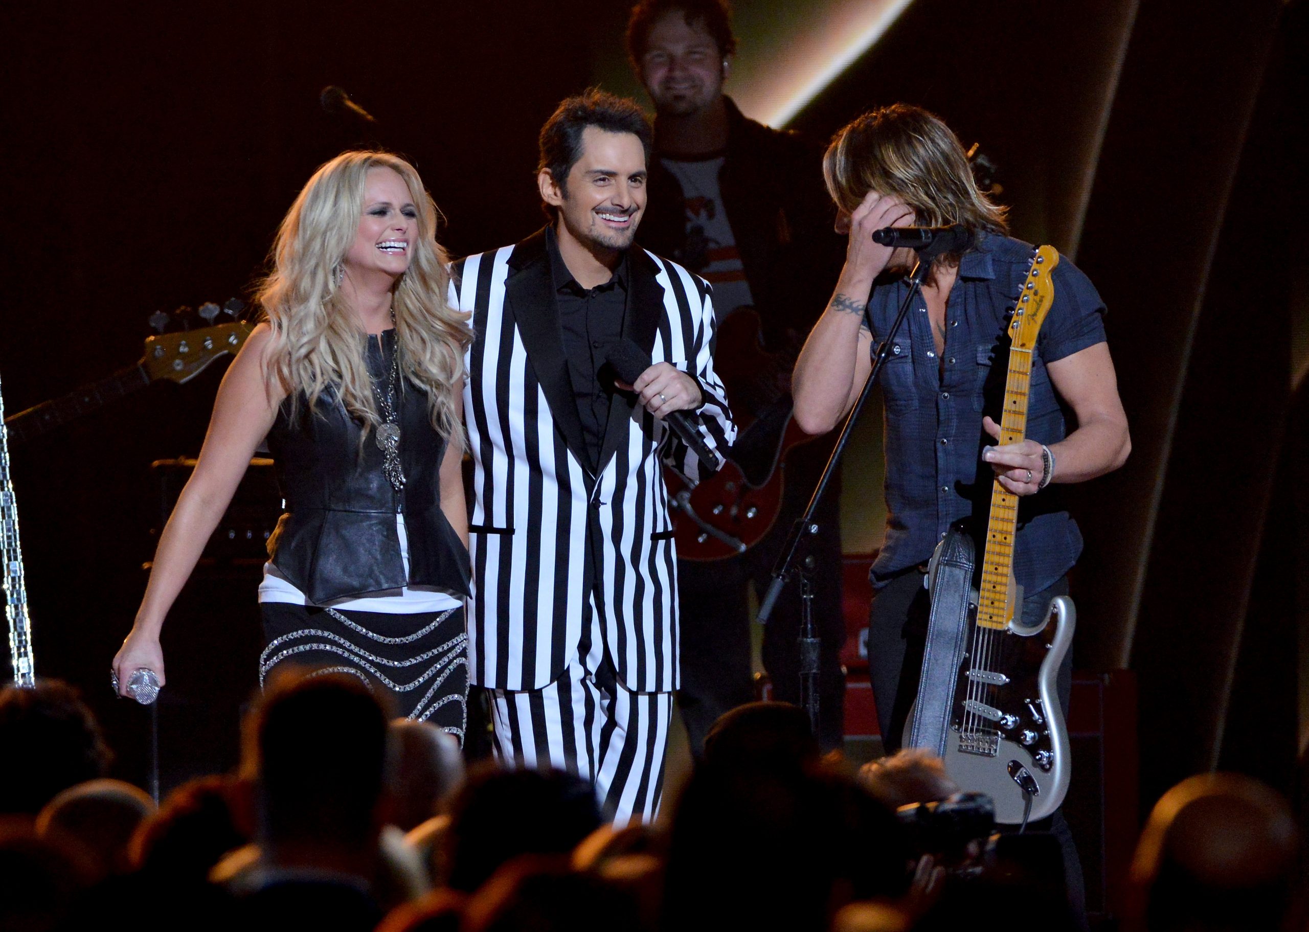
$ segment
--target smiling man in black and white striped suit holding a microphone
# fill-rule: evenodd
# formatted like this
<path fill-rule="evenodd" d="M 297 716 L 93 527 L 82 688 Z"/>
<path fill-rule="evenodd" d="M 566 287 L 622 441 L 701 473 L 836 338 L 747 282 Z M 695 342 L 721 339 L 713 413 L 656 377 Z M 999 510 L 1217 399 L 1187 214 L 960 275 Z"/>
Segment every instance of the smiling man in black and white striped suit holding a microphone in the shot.
<path fill-rule="evenodd" d="M 473 682 L 492 691 L 501 759 L 580 774 L 619 823 L 657 812 L 679 682 L 661 466 L 702 466 L 665 416 L 695 412 L 715 452 L 736 436 L 708 284 L 632 247 L 649 151 L 634 102 L 564 101 L 541 132 L 552 223 L 461 260 L 452 284 L 476 334 Z M 605 364 L 620 340 L 654 360 L 632 385 Z"/>

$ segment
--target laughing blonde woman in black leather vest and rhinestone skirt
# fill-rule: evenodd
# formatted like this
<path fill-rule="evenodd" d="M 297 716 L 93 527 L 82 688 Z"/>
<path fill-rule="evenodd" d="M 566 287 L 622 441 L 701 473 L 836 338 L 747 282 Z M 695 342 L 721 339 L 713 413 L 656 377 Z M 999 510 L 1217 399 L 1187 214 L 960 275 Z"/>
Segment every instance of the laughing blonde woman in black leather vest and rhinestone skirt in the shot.
<path fill-rule="evenodd" d="M 309 179 L 259 291 L 266 321 L 223 380 L 195 474 L 114 657 L 165 681 L 160 628 L 267 439 L 287 513 L 259 585 L 281 662 L 359 675 L 398 712 L 463 736 L 469 592 L 463 351 L 436 206 L 414 168 L 346 152 Z"/>

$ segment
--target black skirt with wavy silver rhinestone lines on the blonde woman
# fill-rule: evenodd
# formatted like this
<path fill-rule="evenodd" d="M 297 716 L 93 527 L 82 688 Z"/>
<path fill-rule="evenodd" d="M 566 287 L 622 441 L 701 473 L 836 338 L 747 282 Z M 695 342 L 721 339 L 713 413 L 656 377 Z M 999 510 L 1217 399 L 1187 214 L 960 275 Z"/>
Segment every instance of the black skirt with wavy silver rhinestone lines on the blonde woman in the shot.
<path fill-rule="evenodd" d="M 469 639 L 463 609 L 390 614 L 260 602 L 259 682 L 287 665 L 363 679 L 393 715 L 429 721 L 463 744 Z"/>

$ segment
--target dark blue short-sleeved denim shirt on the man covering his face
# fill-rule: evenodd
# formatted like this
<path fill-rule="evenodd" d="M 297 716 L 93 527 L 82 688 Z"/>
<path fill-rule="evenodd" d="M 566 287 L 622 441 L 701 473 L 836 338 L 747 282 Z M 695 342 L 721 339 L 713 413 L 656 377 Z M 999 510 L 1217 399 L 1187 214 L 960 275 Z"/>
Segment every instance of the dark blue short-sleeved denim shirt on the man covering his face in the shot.
<path fill-rule="evenodd" d="M 1000 420 L 1008 373 L 1008 323 L 1033 247 L 983 233 L 959 260 L 945 312 L 945 350 L 937 357 L 927 302 L 915 296 L 891 340 L 881 373 L 886 445 L 886 541 L 873 563 L 874 586 L 924 563 L 952 524 L 973 517 L 980 535 L 990 516 L 994 471 L 982 449 L 996 441 L 982 416 Z M 1105 340 L 1105 305 L 1068 259 L 1054 275 L 1055 297 L 1037 338 L 1028 397 L 1028 439 L 1063 440 L 1064 410 L 1049 363 Z M 903 278 L 878 279 L 868 301 L 873 352 L 890 331 L 908 289 Z M 1077 562 L 1081 534 L 1056 486 L 1024 496 L 1013 571 L 1031 594 Z M 980 560 L 980 550 L 978 550 Z"/>

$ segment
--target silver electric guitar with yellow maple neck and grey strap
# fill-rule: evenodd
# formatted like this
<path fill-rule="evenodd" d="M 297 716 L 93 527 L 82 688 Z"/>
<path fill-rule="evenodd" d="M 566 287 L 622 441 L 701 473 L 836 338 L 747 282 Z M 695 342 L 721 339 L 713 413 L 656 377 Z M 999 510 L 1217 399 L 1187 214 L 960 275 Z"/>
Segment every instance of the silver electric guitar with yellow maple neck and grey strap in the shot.
<path fill-rule="evenodd" d="M 1031 353 L 1054 301 L 1056 264 L 1051 246 L 1035 251 L 1009 323 L 1001 444 L 1026 433 Z M 906 747 L 940 754 L 961 789 L 995 800 L 996 822 L 1005 825 L 1050 816 L 1072 775 L 1055 682 L 1076 613 L 1072 600 L 1058 596 L 1035 624 L 1024 626 L 1022 588 L 1013 579 L 1017 517 L 1018 496 L 996 479 L 980 573 L 965 530 L 950 530 L 937 546 L 919 696 L 905 729 Z"/>

